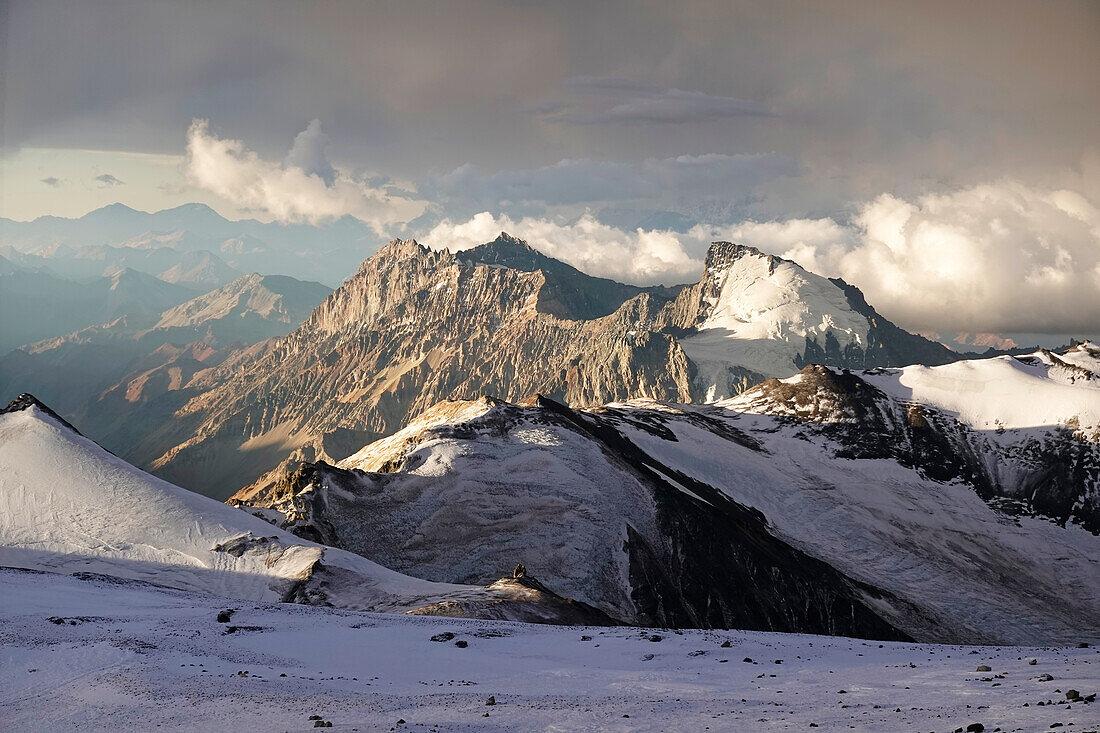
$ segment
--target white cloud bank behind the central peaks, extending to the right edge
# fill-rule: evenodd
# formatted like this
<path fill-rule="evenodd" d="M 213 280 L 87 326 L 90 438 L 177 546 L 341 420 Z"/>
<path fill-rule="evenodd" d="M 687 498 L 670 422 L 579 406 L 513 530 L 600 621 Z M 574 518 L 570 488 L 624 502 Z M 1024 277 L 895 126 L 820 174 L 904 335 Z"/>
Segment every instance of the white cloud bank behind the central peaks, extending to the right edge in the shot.
<path fill-rule="evenodd" d="M 570 223 L 482 212 L 446 219 L 426 243 L 451 250 L 501 231 L 593 275 L 695 281 L 710 242 L 728 240 L 844 277 L 914 331 L 1100 332 L 1100 209 L 1070 190 L 999 180 L 912 199 L 882 195 L 832 218 L 627 231 L 591 215 Z"/>

